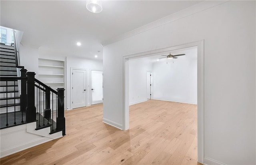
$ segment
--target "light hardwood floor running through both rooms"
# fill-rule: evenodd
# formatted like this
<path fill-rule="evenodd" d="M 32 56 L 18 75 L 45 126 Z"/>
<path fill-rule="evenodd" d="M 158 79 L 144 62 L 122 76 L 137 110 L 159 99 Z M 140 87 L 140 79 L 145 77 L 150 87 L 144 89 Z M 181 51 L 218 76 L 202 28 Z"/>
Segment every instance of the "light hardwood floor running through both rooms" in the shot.
<path fill-rule="evenodd" d="M 66 136 L 4 157 L 0 164 L 199 164 L 197 105 L 153 99 L 131 105 L 129 131 L 103 123 L 102 109 L 99 104 L 65 111 Z"/>

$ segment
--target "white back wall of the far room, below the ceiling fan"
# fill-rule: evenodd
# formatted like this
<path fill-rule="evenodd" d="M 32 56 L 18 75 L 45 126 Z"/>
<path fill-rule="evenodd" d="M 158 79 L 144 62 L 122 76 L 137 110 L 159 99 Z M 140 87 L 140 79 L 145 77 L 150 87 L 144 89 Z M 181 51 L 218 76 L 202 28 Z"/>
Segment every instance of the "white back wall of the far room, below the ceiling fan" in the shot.
<path fill-rule="evenodd" d="M 153 63 L 154 99 L 197 104 L 197 49 L 172 54 L 186 55 Z"/>

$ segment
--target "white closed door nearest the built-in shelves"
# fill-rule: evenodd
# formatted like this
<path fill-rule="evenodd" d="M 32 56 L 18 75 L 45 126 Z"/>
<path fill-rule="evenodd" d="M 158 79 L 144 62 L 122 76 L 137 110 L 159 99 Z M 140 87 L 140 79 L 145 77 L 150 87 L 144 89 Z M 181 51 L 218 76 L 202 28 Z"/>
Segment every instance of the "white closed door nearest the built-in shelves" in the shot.
<path fill-rule="evenodd" d="M 72 108 L 86 106 L 86 70 L 72 69 Z"/>

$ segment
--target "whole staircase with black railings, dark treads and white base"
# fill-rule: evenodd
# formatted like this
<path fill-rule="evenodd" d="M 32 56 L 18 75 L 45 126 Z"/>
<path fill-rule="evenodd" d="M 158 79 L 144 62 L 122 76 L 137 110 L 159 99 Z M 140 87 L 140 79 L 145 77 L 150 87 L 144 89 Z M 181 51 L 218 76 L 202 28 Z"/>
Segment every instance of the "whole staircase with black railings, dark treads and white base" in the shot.
<path fill-rule="evenodd" d="M 18 65 L 14 46 L 0 44 L 0 157 L 65 135 L 64 88 L 57 91 Z"/>

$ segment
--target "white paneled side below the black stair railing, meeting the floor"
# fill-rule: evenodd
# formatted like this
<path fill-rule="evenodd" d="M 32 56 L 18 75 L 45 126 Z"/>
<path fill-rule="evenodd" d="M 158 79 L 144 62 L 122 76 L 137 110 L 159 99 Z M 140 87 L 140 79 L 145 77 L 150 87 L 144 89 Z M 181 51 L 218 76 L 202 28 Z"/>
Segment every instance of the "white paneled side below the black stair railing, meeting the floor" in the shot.
<path fill-rule="evenodd" d="M 35 129 L 36 122 L 0 129 L 0 158 L 62 137 L 62 131 L 50 135 L 50 127 Z"/>

